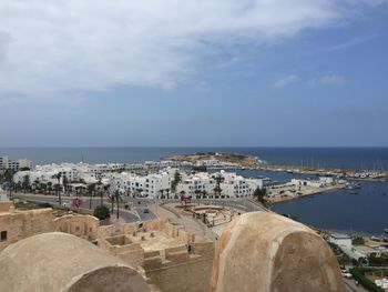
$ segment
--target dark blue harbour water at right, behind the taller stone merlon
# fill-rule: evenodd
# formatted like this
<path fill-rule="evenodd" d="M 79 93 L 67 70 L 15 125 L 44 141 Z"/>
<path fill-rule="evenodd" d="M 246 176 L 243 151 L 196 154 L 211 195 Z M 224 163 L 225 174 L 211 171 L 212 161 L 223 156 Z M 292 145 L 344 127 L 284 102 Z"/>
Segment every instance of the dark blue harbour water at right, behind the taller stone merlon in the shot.
<path fill-rule="evenodd" d="M 283 202 L 272 207 L 280 214 L 317 228 L 381 235 L 388 228 L 388 183 L 365 182 L 358 194 L 347 190 Z"/>

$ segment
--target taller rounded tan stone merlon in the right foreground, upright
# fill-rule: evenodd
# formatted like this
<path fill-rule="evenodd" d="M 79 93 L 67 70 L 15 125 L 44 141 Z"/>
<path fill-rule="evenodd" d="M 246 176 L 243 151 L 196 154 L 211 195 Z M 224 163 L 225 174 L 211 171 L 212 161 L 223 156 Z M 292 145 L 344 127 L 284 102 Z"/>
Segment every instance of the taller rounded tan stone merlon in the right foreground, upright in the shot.
<path fill-rule="evenodd" d="M 211 291 L 345 291 L 335 255 L 307 226 L 270 212 L 229 223 L 216 253 Z"/>

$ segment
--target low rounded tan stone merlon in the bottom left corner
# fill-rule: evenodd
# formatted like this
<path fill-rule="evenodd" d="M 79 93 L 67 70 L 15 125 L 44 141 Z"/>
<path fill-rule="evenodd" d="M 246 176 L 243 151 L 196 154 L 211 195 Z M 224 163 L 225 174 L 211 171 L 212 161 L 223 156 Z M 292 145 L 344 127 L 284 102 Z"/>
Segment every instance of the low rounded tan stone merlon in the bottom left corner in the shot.
<path fill-rule="evenodd" d="M 0 274 L 2 292 L 150 291 L 123 261 L 61 232 L 34 235 L 4 249 Z"/>

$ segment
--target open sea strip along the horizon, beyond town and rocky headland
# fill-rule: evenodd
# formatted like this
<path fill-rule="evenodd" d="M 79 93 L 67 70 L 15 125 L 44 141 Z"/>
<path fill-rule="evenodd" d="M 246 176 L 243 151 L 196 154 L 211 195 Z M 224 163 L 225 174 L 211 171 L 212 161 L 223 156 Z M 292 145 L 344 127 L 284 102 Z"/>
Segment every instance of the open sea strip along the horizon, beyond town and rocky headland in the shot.
<path fill-rule="evenodd" d="M 388 148 L 0 148 L 0 155 L 28 158 L 34 164 L 80 162 L 144 162 L 170 154 L 238 152 L 268 163 L 354 169 L 388 168 Z"/>

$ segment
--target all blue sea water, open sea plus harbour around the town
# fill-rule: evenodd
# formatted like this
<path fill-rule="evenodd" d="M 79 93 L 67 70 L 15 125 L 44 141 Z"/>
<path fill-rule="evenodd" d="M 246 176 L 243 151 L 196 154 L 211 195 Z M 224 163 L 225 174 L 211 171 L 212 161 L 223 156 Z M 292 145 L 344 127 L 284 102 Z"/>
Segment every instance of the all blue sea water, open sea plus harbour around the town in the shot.
<path fill-rule="evenodd" d="M 388 148 L 0 148 L 0 157 L 29 159 L 33 164 L 143 163 L 162 157 L 194 152 L 252 154 L 268 164 L 305 165 L 359 170 L 386 170 Z M 287 172 L 237 170 L 244 177 L 274 181 L 307 178 Z M 363 182 L 357 194 L 333 191 L 270 207 L 280 214 L 316 226 L 344 233 L 380 235 L 388 228 L 388 182 Z"/>

